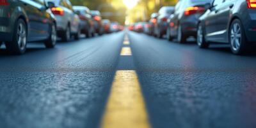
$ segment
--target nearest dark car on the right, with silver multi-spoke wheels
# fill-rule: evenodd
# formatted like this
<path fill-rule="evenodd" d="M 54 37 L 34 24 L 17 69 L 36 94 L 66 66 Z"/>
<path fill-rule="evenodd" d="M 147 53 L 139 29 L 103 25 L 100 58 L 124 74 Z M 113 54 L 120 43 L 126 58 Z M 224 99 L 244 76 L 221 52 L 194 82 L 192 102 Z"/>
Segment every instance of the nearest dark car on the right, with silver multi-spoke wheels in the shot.
<path fill-rule="evenodd" d="M 210 42 L 230 44 L 234 54 L 243 54 L 256 42 L 255 16 L 255 0 L 215 0 L 200 17 L 197 44 L 202 48 Z"/>

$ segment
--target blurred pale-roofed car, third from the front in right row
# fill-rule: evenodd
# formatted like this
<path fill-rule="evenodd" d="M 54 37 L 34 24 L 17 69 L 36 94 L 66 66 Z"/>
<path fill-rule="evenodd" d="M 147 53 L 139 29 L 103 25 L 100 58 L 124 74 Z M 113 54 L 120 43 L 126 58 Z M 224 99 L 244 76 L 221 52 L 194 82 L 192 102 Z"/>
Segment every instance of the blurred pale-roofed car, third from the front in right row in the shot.
<path fill-rule="evenodd" d="M 166 35 L 166 28 L 168 27 L 167 19 L 174 12 L 174 6 L 163 6 L 157 16 L 157 22 L 154 26 L 154 35 L 157 38 L 163 38 L 163 35 Z"/>

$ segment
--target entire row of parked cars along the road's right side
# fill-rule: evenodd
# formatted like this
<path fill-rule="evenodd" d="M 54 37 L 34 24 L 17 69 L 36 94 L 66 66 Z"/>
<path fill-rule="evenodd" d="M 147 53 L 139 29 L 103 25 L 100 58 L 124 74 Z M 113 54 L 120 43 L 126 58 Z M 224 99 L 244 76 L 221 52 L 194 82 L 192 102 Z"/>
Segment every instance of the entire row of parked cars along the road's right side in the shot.
<path fill-rule="evenodd" d="M 148 22 L 129 29 L 184 43 L 196 38 L 198 47 L 212 43 L 230 44 L 234 54 L 244 54 L 256 42 L 255 0 L 180 0 L 176 6 L 164 6 L 152 13 Z"/>

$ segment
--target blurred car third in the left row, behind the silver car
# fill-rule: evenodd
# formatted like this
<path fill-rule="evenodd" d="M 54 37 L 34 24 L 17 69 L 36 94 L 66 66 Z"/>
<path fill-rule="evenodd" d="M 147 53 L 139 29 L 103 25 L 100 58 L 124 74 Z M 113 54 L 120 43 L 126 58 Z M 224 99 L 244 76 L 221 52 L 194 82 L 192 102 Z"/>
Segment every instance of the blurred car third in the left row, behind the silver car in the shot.
<path fill-rule="evenodd" d="M 94 36 L 95 29 L 93 26 L 92 15 L 90 14 L 89 8 L 86 6 L 73 6 L 74 11 L 79 16 L 80 22 L 79 26 L 81 28 L 81 33 L 90 38 Z"/>

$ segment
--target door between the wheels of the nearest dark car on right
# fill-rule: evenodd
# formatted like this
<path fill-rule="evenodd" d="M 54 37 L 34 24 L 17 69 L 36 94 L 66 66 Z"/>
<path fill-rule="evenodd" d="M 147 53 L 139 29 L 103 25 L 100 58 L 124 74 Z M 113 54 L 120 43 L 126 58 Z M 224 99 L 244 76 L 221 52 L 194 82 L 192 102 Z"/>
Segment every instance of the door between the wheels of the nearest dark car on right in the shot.
<path fill-rule="evenodd" d="M 220 42 L 223 40 L 221 35 L 225 33 L 223 26 L 221 26 L 221 9 L 224 0 L 214 0 L 211 7 L 211 12 L 205 18 L 205 34 L 207 40 Z"/>

